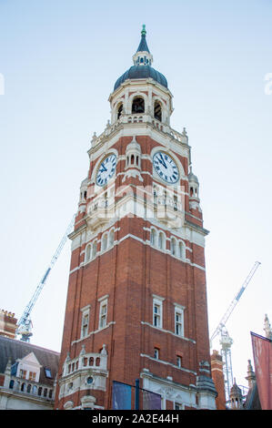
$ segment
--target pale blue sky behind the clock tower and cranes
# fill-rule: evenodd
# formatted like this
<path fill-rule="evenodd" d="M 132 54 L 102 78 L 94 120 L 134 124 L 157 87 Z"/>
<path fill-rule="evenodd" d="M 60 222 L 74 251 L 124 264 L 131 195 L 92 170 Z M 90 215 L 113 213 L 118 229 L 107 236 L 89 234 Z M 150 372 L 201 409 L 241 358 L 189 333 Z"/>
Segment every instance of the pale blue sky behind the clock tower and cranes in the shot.
<path fill-rule="evenodd" d="M 271 22 L 270 0 L 0 0 L 1 308 L 19 318 L 43 276 L 146 24 L 200 181 L 210 332 L 262 262 L 227 322 L 234 375 L 247 385 L 250 331 L 264 334 L 265 313 L 272 321 Z M 56 351 L 69 259 L 67 244 L 33 311 L 32 342 Z"/>

